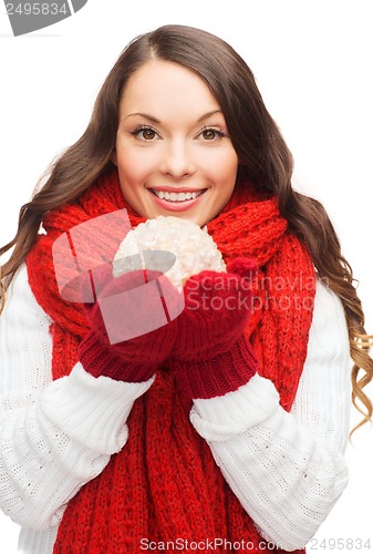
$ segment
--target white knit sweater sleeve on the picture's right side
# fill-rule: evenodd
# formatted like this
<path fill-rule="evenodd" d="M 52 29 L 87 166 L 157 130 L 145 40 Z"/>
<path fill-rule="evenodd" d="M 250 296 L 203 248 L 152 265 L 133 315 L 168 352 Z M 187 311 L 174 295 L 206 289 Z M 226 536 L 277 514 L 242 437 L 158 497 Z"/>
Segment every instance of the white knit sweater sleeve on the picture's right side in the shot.
<path fill-rule="evenodd" d="M 255 376 L 224 397 L 195 400 L 190 420 L 261 535 L 303 547 L 348 483 L 350 351 L 340 299 L 321 281 L 308 357 L 291 412 Z"/>

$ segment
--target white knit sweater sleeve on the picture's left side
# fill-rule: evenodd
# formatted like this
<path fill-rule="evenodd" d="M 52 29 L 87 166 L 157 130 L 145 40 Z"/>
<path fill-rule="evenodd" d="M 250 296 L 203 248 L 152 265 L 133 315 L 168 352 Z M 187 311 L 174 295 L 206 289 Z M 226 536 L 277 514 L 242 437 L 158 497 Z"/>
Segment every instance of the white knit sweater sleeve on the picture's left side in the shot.
<path fill-rule="evenodd" d="M 153 382 L 96 379 L 80 363 L 52 381 L 50 322 L 22 266 L 0 317 L 0 506 L 39 530 L 122 449 L 131 408 Z"/>

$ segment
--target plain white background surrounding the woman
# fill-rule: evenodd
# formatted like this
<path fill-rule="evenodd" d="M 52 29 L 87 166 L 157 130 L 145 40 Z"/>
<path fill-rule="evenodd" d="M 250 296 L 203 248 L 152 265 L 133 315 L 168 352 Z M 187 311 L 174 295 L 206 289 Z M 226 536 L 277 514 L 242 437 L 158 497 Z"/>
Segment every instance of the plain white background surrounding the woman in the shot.
<path fill-rule="evenodd" d="M 373 332 L 371 1 L 89 0 L 74 17 L 19 38 L 2 2 L 0 10 L 0 244 L 12 238 L 46 165 L 84 131 L 124 45 L 160 24 L 186 23 L 220 35 L 251 66 L 294 155 L 296 187 L 329 211 Z M 373 550 L 369 425 L 354 435 L 348 459 L 350 485 L 310 553 L 336 550 L 323 548 L 323 538 L 341 538 L 339 552 L 352 552 L 348 538 L 370 538 Z M 0 512 L 1 553 L 17 552 L 17 535 Z"/>

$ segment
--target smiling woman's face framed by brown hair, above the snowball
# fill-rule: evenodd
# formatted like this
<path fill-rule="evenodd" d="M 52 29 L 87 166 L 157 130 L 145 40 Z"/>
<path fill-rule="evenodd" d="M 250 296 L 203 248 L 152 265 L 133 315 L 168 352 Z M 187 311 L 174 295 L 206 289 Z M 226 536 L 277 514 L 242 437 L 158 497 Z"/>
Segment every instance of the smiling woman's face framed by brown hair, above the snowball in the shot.
<path fill-rule="evenodd" d="M 141 216 L 203 226 L 230 198 L 238 157 L 206 83 L 177 63 L 151 61 L 129 79 L 120 105 L 113 162 Z"/>

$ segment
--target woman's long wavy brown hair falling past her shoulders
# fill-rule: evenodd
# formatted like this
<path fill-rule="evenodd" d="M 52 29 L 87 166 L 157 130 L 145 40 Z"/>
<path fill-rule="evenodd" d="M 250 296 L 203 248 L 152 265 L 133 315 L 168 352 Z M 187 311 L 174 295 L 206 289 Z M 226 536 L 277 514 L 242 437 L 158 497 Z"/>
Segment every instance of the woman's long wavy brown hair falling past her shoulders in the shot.
<path fill-rule="evenodd" d="M 74 202 L 111 164 L 126 83 L 152 59 L 182 64 L 207 83 L 220 104 L 238 154 L 238 176 L 249 177 L 258 189 L 279 198 L 281 214 L 307 245 L 319 276 L 342 299 L 354 361 L 352 401 L 363 416 L 360 427 L 371 420 L 373 411 L 363 391 L 373 377 L 369 356 L 372 337 L 364 330 L 352 269 L 322 205 L 292 188 L 291 153 L 265 106 L 251 70 L 229 44 L 208 32 L 165 25 L 136 38 L 122 52 L 97 95 L 86 131 L 52 164 L 43 186 L 21 207 L 17 235 L 0 249 L 2 255 L 14 247 L 2 268 L 3 289 L 34 244 L 44 214 Z"/>

